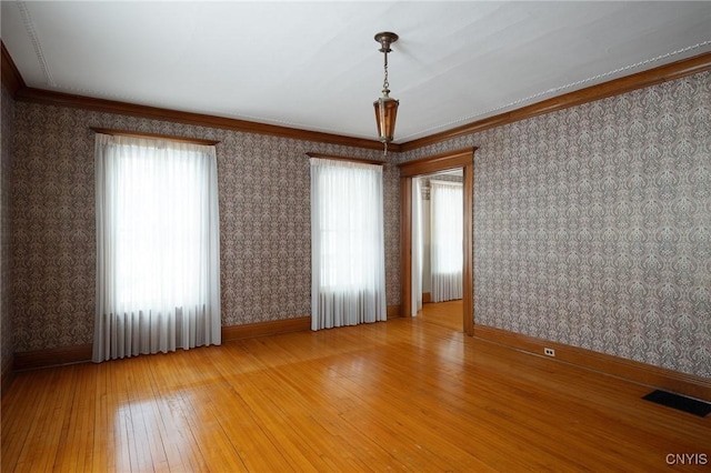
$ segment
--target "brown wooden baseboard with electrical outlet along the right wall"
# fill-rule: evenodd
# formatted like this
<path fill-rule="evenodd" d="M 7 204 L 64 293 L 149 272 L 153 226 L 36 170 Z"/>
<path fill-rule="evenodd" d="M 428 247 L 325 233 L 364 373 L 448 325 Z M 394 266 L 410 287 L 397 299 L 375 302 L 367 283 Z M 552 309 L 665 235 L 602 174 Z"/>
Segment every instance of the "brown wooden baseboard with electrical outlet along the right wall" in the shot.
<path fill-rule="evenodd" d="M 474 336 L 541 356 L 543 356 L 543 348 L 550 348 L 555 350 L 555 360 L 561 362 L 691 397 L 711 401 L 711 380 L 693 374 L 680 373 L 665 368 L 537 339 L 493 326 L 474 325 Z"/>

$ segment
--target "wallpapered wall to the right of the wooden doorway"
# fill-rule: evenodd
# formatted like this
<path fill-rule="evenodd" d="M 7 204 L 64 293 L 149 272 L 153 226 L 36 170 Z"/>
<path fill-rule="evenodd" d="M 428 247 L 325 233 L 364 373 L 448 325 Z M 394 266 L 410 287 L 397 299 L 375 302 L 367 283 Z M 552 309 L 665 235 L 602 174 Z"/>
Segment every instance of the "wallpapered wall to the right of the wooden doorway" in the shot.
<path fill-rule="evenodd" d="M 471 145 L 475 323 L 711 378 L 711 72 Z"/>

